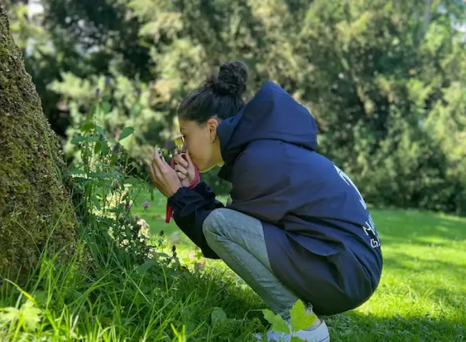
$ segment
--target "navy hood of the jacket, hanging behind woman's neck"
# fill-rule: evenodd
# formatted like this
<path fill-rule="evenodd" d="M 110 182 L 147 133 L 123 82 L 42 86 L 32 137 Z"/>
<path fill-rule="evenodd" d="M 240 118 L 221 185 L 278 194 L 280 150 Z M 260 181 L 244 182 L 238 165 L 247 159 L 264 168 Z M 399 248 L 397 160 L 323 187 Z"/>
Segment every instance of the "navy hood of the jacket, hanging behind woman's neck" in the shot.
<path fill-rule="evenodd" d="M 234 162 L 255 140 L 281 140 L 316 151 L 317 133 L 311 113 L 283 88 L 269 81 L 237 115 L 218 125 L 224 161 L 218 176 L 229 180 Z"/>

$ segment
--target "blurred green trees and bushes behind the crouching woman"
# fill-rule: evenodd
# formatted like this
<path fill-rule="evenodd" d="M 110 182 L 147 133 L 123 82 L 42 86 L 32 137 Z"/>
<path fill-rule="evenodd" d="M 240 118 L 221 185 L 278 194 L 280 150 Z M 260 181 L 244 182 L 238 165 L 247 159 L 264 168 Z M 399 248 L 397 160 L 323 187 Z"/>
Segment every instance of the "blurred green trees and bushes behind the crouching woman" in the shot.
<path fill-rule="evenodd" d="M 368 203 L 466 214 L 466 3 L 460 0 L 0 0 L 68 162 L 96 97 L 136 159 L 177 134 L 179 101 L 245 61 L 305 105 L 319 152 Z M 228 191 L 203 175 L 219 194 Z"/>

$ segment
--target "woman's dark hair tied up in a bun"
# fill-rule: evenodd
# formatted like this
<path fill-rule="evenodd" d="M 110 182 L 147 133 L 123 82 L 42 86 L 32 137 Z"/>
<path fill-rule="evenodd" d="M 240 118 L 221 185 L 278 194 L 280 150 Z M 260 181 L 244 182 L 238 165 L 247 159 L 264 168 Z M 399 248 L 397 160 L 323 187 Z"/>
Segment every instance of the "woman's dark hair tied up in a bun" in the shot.
<path fill-rule="evenodd" d="M 204 124 L 210 118 L 232 117 L 244 106 L 243 94 L 248 81 L 248 68 L 241 61 L 220 66 L 218 75 L 208 77 L 199 88 L 187 95 L 178 108 L 182 120 Z"/>

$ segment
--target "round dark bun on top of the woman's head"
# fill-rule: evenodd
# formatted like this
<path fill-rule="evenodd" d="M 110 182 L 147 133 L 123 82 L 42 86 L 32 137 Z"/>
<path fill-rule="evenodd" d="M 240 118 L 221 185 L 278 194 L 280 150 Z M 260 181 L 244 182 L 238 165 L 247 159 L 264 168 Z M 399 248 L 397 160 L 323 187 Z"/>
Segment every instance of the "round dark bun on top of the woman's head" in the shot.
<path fill-rule="evenodd" d="M 219 95 L 241 97 L 248 84 L 248 67 L 244 62 L 232 61 L 220 66 L 214 87 Z"/>

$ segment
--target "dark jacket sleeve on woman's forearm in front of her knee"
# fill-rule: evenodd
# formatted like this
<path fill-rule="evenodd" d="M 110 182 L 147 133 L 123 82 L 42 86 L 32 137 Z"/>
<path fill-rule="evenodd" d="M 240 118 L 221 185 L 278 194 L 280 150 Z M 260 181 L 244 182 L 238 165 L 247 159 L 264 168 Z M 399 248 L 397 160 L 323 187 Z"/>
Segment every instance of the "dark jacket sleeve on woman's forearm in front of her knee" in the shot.
<path fill-rule="evenodd" d="M 207 244 L 202 223 L 209 214 L 223 204 L 215 199 L 214 191 L 204 182 L 188 189 L 181 187 L 168 199 L 173 208 L 173 218 L 179 229 L 201 250 L 206 258 L 219 259 L 218 255 Z"/>

